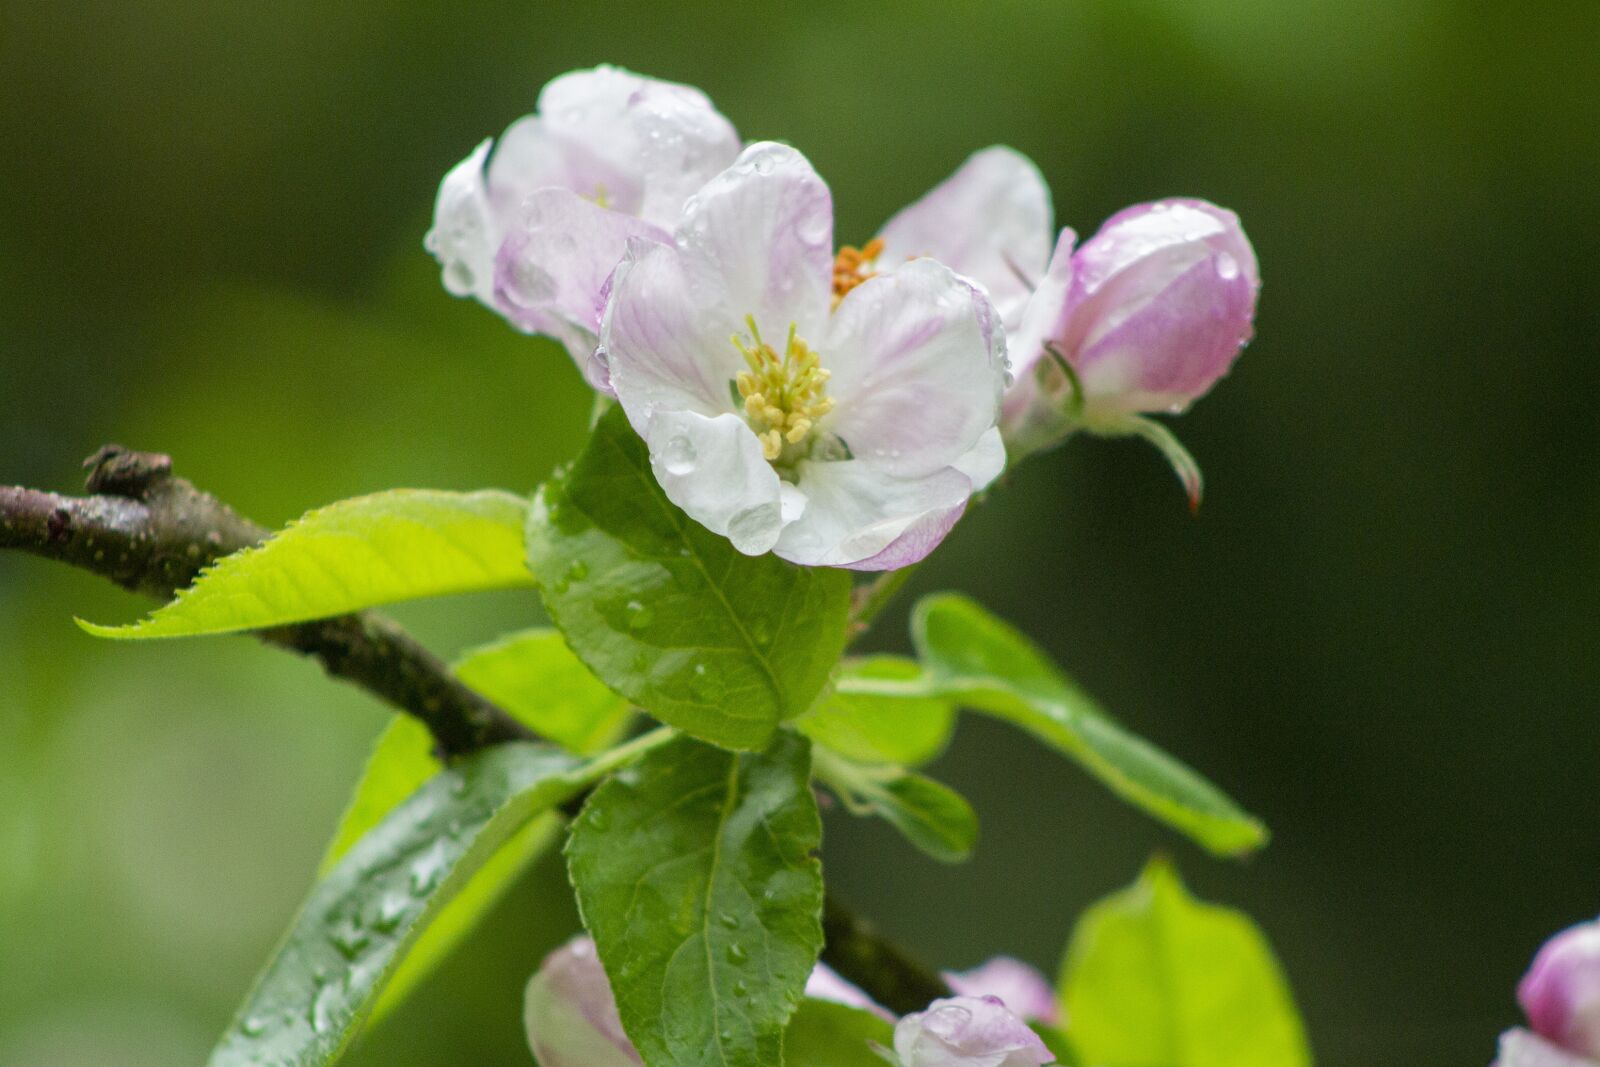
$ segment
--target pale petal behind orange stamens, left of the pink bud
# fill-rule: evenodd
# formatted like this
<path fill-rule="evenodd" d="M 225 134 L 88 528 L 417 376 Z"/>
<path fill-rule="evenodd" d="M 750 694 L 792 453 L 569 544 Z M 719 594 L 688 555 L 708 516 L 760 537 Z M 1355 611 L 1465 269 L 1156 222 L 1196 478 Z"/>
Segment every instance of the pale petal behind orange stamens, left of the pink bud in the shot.
<path fill-rule="evenodd" d="M 878 262 L 931 256 L 982 285 L 1011 328 L 1045 270 L 1051 216 L 1050 187 L 1034 162 L 1013 149 L 984 149 L 885 224 Z"/>

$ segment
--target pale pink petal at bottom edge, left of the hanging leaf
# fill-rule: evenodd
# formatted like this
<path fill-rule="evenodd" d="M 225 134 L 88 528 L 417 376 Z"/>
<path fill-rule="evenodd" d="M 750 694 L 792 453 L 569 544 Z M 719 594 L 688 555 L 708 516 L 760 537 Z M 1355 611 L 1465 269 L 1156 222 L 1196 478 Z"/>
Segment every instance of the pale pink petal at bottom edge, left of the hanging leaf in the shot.
<path fill-rule="evenodd" d="M 622 1032 L 595 945 L 574 937 L 539 965 L 523 998 L 528 1046 L 539 1067 L 640 1067 Z"/>

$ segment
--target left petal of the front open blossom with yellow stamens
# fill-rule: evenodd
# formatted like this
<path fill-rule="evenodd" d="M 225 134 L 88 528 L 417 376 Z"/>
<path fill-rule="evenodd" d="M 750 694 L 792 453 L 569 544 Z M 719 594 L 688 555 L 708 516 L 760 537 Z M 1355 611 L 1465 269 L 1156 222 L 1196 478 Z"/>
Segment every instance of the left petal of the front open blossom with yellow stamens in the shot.
<path fill-rule="evenodd" d="M 734 410 L 728 382 L 744 366 L 733 346 L 742 323 L 726 304 L 690 277 L 677 248 L 629 246 L 611 277 L 600 342 L 610 386 L 635 430 L 646 434 L 656 411 L 712 418 Z"/>

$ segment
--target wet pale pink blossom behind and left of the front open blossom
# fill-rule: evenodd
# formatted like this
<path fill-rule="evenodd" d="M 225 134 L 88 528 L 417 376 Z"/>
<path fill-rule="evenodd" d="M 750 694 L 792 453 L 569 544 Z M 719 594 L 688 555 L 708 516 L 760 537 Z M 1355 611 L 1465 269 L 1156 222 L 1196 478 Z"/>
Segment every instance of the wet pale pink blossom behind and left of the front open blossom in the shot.
<path fill-rule="evenodd" d="M 627 240 L 669 240 L 683 202 L 738 152 L 699 90 L 573 70 L 445 176 L 424 245 L 446 290 L 557 338 L 582 363 Z"/>

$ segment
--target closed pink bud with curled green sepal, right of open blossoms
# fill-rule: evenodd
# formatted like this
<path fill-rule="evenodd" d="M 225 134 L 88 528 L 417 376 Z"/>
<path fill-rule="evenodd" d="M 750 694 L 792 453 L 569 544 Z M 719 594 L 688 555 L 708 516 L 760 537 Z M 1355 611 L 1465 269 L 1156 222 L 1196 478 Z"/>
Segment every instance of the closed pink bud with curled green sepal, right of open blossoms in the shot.
<path fill-rule="evenodd" d="M 1203 200 L 1126 208 L 1074 251 L 1062 230 L 1013 336 L 1005 434 L 1027 453 L 1074 429 L 1149 438 L 1198 502 L 1200 470 L 1149 413 L 1178 414 L 1250 341 L 1261 277 L 1232 211 Z"/>

